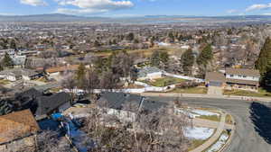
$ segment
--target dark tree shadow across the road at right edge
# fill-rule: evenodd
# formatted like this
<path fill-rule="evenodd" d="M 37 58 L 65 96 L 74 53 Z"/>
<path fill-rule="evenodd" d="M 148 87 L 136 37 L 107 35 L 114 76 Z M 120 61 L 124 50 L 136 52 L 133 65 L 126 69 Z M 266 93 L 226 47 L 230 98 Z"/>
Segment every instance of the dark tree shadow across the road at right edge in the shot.
<path fill-rule="evenodd" d="M 250 119 L 257 133 L 271 144 L 271 108 L 261 103 L 251 103 Z"/>

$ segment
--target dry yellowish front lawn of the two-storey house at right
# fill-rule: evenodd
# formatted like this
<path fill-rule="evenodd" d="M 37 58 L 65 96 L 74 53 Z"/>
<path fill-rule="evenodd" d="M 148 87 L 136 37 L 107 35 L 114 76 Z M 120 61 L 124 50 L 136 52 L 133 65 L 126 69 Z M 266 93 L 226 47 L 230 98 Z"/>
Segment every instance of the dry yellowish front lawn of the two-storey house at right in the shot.
<path fill-rule="evenodd" d="M 251 92 L 245 90 L 225 90 L 225 95 L 237 95 L 237 96 L 254 96 L 254 97 L 271 97 L 271 93 L 259 88 L 258 92 Z"/>

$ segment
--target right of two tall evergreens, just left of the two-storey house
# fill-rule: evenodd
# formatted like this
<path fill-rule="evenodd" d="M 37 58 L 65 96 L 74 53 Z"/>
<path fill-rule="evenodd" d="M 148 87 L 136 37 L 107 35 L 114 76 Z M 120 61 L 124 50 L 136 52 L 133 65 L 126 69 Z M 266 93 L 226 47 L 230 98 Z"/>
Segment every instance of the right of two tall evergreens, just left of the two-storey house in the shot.
<path fill-rule="evenodd" d="M 213 53 L 211 45 L 208 44 L 204 49 L 202 49 L 200 56 L 197 58 L 197 63 L 206 67 L 212 58 Z"/>

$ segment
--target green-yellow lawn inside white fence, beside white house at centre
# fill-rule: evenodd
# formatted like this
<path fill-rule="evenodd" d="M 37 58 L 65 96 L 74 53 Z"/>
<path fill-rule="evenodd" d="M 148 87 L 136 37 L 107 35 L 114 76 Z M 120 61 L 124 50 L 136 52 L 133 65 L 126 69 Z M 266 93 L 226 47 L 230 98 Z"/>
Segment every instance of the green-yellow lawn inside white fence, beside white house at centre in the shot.
<path fill-rule="evenodd" d="M 180 83 L 185 82 L 185 81 L 186 80 L 181 79 L 181 78 L 166 76 L 166 77 L 163 77 L 163 78 L 155 79 L 154 81 L 144 81 L 144 83 L 146 83 L 148 85 L 157 86 L 157 87 L 164 87 L 164 86 L 167 86 L 167 85 L 180 84 Z"/>

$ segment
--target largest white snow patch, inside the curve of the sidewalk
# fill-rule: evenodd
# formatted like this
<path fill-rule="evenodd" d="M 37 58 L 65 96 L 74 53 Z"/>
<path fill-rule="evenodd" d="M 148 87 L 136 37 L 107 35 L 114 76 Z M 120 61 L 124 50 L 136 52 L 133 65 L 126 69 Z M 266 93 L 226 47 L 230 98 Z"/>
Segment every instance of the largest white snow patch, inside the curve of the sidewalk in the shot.
<path fill-rule="evenodd" d="M 184 136 L 188 139 L 209 139 L 213 134 L 214 129 L 203 127 L 187 127 L 184 131 Z"/>

